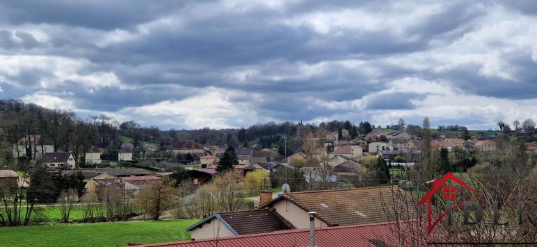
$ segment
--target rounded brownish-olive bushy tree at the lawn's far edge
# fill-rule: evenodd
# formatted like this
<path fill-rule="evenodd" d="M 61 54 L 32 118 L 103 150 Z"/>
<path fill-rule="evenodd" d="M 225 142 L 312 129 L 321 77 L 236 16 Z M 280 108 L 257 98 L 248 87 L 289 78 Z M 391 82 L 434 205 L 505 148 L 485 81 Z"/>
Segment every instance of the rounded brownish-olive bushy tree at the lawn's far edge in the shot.
<path fill-rule="evenodd" d="M 164 178 L 151 182 L 149 186 L 140 191 L 138 200 L 143 207 L 145 214 L 149 215 L 154 221 L 158 221 L 166 210 L 175 205 L 177 201 L 177 189 L 173 183 Z"/>

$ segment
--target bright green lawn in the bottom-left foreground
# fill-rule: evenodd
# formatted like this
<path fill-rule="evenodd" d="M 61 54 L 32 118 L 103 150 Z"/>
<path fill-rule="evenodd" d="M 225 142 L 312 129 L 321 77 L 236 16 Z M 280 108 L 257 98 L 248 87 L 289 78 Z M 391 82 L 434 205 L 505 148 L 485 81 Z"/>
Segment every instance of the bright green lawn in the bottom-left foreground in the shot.
<path fill-rule="evenodd" d="M 132 221 L 0 228 L 0 246 L 127 246 L 190 239 L 198 220 Z"/>

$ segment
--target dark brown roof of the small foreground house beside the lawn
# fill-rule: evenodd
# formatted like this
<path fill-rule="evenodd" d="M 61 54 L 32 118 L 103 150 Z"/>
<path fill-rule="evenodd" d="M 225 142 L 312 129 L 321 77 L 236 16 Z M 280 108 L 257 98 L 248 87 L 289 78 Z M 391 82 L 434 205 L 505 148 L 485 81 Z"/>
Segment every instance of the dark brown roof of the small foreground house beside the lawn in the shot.
<path fill-rule="evenodd" d="M 186 230 L 191 231 L 214 218 L 223 221 L 225 226 L 231 228 L 230 231 L 237 235 L 274 232 L 294 228 L 289 221 L 283 219 L 274 210 L 248 210 L 216 213 L 202 219 L 202 221 L 195 223 Z"/>

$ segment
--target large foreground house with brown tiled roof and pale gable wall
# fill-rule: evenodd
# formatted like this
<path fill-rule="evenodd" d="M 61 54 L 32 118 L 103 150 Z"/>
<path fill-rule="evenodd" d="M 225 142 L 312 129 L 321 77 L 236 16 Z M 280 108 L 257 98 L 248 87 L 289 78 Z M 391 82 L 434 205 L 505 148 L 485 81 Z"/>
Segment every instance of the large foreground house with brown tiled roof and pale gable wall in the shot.
<path fill-rule="evenodd" d="M 314 211 L 315 225 L 321 228 L 338 225 L 360 225 L 392 221 L 389 212 L 405 211 L 401 196 L 410 196 L 396 186 L 332 189 L 285 193 L 262 203 L 262 209 L 274 209 L 295 228 L 309 228 L 307 212 Z M 401 208 L 399 208 L 401 207 Z"/>

